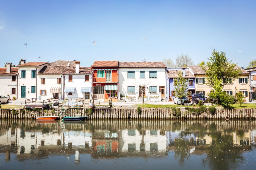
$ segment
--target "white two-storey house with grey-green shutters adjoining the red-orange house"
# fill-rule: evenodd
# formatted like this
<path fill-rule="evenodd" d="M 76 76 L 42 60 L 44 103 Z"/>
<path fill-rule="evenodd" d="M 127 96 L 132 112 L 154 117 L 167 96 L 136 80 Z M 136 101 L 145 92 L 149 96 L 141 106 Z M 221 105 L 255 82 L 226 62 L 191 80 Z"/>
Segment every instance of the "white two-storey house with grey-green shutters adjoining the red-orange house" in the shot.
<path fill-rule="evenodd" d="M 166 97 L 166 65 L 163 62 L 119 62 L 118 91 L 121 96 Z"/>

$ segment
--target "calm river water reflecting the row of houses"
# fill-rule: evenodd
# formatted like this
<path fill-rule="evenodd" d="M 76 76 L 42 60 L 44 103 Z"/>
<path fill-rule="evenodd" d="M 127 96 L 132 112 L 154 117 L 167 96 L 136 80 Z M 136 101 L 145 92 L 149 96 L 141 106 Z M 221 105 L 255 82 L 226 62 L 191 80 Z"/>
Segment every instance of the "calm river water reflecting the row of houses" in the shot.
<path fill-rule="evenodd" d="M 256 121 L 0 120 L 0 169 L 255 169 Z"/>

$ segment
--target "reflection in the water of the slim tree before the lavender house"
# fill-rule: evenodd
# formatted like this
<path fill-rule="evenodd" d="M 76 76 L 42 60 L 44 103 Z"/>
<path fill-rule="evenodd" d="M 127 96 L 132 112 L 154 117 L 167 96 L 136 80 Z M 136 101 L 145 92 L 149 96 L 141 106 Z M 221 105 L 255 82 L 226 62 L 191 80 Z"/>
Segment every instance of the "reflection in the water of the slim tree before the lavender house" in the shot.
<path fill-rule="evenodd" d="M 184 138 L 175 138 L 174 141 L 174 157 L 179 159 L 179 165 L 182 166 L 185 163 L 185 159 L 190 157 L 189 153 L 189 140 Z"/>

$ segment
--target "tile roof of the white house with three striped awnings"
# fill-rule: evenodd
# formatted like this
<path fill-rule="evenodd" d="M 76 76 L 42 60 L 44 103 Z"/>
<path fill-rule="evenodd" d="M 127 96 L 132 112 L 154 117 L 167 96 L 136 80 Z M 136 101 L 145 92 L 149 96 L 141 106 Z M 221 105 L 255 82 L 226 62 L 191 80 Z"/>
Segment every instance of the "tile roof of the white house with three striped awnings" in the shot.
<path fill-rule="evenodd" d="M 80 67 L 79 74 L 91 74 L 91 67 Z M 68 66 L 45 66 L 38 74 L 76 74 L 75 67 Z"/>

